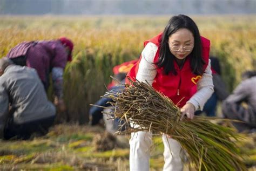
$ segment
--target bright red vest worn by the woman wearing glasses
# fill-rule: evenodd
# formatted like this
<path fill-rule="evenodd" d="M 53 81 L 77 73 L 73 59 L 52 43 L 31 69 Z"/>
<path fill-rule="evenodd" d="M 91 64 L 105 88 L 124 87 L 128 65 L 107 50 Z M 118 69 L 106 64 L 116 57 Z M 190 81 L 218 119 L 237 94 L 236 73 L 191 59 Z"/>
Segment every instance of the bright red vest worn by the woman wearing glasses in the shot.
<path fill-rule="evenodd" d="M 160 33 L 156 37 L 150 40 L 146 40 L 144 42 L 144 47 L 149 42 L 156 44 L 158 46 L 156 56 L 154 57 L 154 62 L 156 62 L 159 58 L 159 44 L 161 41 L 162 34 L 163 33 Z M 203 67 L 205 70 L 209 60 L 210 40 L 201 37 L 201 43 L 202 57 L 206 63 Z M 142 57 L 140 56 L 140 59 L 141 58 Z M 131 78 L 132 80 L 135 80 L 136 78 L 140 59 L 127 74 L 127 77 Z M 174 76 L 174 74 L 172 73 L 165 75 L 163 74 L 163 67 L 157 67 L 157 75 L 154 78 L 152 84 L 152 86 L 157 91 L 169 97 L 174 102 L 174 104 L 177 104 L 179 107 L 183 107 L 186 104 L 186 102 L 192 97 L 192 95 L 196 93 L 193 90 L 197 86 L 197 81 L 199 81 L 199 79 L 201 78 L 201 76 L 197 76 L 192 73 L 190 68 L 190 60 L 191 56 L 188 56 L 181 70 L 179 69 L 178 64 L 174 61 L 174 67 L 177 71 L 177 76 Z"/>

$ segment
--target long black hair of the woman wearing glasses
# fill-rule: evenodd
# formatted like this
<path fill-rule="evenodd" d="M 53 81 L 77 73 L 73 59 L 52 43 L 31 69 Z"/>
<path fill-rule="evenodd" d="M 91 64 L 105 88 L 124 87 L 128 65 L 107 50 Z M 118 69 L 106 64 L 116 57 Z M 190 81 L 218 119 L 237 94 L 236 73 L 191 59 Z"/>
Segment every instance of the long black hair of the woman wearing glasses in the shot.
<path fill-rule="evenodd" d="M 171 72 L 177 75 L 177 71 L 174 69 L 174 59 L 176 58 L 169 49 L 169 37 L 178 31 L 179 29 L 188 29 L 194 36 L 194 48 L 191 52 L 191 71 L 194 74 L 203 74 L 203 66 L 205 64 L 204 59 L 201 56 L 201 38 L 198 27 L 194 21 L 185 15 L 173 16 L 168 24 L 165 26 L 163 35 L 160 41 L 159 58 L 156 62 L 157 67 L 164 68 L 164 74 Z"/>

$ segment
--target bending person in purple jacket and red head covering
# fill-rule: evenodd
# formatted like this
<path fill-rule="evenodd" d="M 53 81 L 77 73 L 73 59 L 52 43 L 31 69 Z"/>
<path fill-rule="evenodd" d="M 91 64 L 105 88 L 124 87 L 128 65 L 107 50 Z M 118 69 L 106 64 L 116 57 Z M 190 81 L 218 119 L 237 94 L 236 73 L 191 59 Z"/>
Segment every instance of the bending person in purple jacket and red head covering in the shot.
<path fill-rule="evenodd" d="M 73 43 L 62 37 L 56 40 L 22 42 L 12 48 L 7 58 L 15 64 L 36 69 L 45 90 L 49 87 L 50 73 L 55 93 L 55 104 L 65 111 L 63 101 L 63 72 L 67 61 L 72 60 Z"/>

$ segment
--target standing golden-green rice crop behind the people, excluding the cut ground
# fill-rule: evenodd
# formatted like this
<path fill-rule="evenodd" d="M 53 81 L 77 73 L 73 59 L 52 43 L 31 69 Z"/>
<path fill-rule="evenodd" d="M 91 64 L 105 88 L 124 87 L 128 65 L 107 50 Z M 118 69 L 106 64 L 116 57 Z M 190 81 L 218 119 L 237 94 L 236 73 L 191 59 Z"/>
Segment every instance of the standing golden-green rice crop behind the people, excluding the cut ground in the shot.
<path fill-rule="evenodd" d="M 256 17 L 191 16 L 202 36 L 211 40 L 211 55 L 219 57 L 228 90 L 241 73 L 256 66 Z M 112 67 L 139 57 L 143 42 L 163 31 L 170 16 L 1 16 L 0 57 L 24 40 L 66 36 L 75 43 L 66 67 L 64 98 L 74 122 L 87 122 L 89 104 L 104 93 Z M 91 79 L 93 76 L 94 79 Z M 67 115 L 68 115 L 67 114 Z"/>

